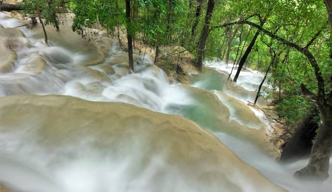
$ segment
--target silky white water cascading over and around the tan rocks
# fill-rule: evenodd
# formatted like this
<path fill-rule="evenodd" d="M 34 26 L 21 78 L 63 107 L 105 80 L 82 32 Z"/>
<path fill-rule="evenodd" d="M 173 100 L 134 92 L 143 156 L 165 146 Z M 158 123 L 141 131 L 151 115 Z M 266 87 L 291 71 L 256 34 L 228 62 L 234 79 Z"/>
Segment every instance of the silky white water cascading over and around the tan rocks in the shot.
<path fill-rule="evenodd" d="M 16 27 L 22 21 L 0 13 L 0 24 L 3 27 Z M 331 177 L 323 184 L 302 183 L 293 178 L 294 171 L 305 166 L 307 160 L 279 164 L 268 154 L 268 144 L 262 135 L 271 133 L 271 127 L 267 126 L 269 122 L 261 111 L 246 105 L 247 101 L 254 100 L 263 74 L 242 71 L 238 83 L 234 84 L 227 81 L 232 66 L 211 61 L 206 62 L 204 73 L 191 74 L 191 85 L 170 83 L 165 72 L 153 65 L 149 56 L 136 54 L 135 73 L 130 73 L 126 53 L 121 51 L 117 41 L 112 42 L 104 62 L 87 65 L 87 61 L 93 58 L 93 52 L 88 49 L 73 48 L 65 42 L 54 40 L 56 38 L 52 38 L 52 35 L 51 46 L 46 46 L 35 32 L 24 27 L 19 29 L 26 37 L 17 39 L 22 46 L 16 48 L 18 59 L 14 68 L 11 72 L 0 73 L 0 96 L 67 95 L 91 101 L 125 102 L 155 112 L 178 114 L 211 131 L 241 160 L 255 167 L 275 184 L 294 192 L 331 191 Z M 234 74 L 235 71 L 231 77 Z M 263 89 L 269 90 L 269 84 L 265 83 Z M 259 99 L 258 104 L 266 105 L 266 101 Z M 10 138 L 1 139 L 7 141 Z M 67 150 L 81 149 L 80 145 L 78 143 L 77 148 Z M 32 148 L 38 149 L 32 144 L 27 146 L 25 151 L 17 153 L 29 154 Z M 15 154 L 11 146 L 6 147 L 0 153 L 0 181 L 19 190 L 60 191 L 57 182 L 61 182 L 69 192 L 125 191 L 124 181 L 112 172 L 122 173 L 128 162 L 103 164 L 100 163 L 102 154 L 89 151 L 87 156 L 92 158 L 88 160 L 78 160 L 61 169 L 46 169 L 43 163 L 51 157 L 44 157 L 42 152 L 34 154 L 41 161 L 29 164 L 18 158 L 22 154 Z M 53 154 L 57 155 L 61 156 Z M 129 158 L 128 161 L 132 160 Z M 151 161 L 151 164 L 152 169 L 154 166 L 167 166 L 158 159 Z M 101 181 L 96 182 L 95 177 Z M 108 182 L 105 177 L 115 180 L 115 185 L 103 188 Z M 147 177 L 135 182 L 143 182 Z M 179 178 L 169 177 L 169 181 L 164 182 L 172 185 L 172 179 Z M 179 185 L 176 187 L 186 189 Z M 140 188 L 136 191 L 140 191 Z"/>

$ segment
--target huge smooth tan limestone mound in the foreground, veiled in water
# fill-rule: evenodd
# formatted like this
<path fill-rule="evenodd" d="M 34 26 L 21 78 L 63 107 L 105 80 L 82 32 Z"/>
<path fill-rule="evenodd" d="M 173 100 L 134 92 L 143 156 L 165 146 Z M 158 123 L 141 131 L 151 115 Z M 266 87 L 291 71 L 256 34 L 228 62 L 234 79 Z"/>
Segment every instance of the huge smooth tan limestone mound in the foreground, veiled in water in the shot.
<path fill-rule="evenodd" d="M 97 183 L 91 186 L 105 180 L 115 191 L 284 191 L 210 132 L 177 115 L 125 103 L 22 95 L 0 98 L 0 122 L 2 153 L 39 162 L 38 168 L 55 167 L 58 176 L 63 172 L 65 184 L 83 186 L 81 191 L 89 191 L 86 185 L 93 179 Z M 85 172 L 89 163 L 84 162 L 90 159 L 96 159 L 93 167 L 105 167 Z M 75 182 L 70 182 L 72 176 Z M 88 180 L 80 182 L 81 177 Z M 112 183 L 118 177 L 119 182 Z M 0 169 L 0 181 L 5 179 Z M 20 186 L 21 181 L 5 182 Z M 107 186 L 100 187 L 107 191 Z M 76 188 L 62 191 L 67 189 Z"/>

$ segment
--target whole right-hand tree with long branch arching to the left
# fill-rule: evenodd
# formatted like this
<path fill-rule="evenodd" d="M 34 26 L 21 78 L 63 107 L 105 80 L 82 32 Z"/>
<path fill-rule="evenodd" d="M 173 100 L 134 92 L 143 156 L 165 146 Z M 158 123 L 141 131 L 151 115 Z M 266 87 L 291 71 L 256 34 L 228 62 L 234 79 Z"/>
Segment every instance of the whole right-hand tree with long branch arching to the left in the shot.
<path fill-rule="evenodd" d="M 320 180 L 326 180 L 329 176 L 329 162 L 332 151 L 332 89 L 325 93 L 325 81 L 322 76 L 320 66 L 318 65 L 315 57 L 309 51 L 309 46 L 313 41 L 319 36 L 322 30 L 316 32 L 316 34 L 310 39 L 307 44 L 302 47 L 290 40 L 284 39 L 264 28 L 261 25 L 250 22 L 248 20 L 240 20 L 233 23 L 224 24 L 223 26 L 235 25 L 235 24 L 247 24 L 252 27 L 257 28 L 257 30 L 270 36 L 272 39 L 276 39 L 283 44 L 292 47 L 302 53 L 315 72 L 315 77 L 317 81 L 317 94 L 313 94 L 309 91 L 303 84 L 301 85 L 301 93 L 307 99 L 314 101 L 321 114 L 322 125 L 319 129 L 317 137 L 315 139 L 314 145 L 312 147 L 309 163 L 306 167 L 297 171 L 295 175 L 299 178 L 310 177 Z M 332 78 L 332 76 L 331 76 Z"/>

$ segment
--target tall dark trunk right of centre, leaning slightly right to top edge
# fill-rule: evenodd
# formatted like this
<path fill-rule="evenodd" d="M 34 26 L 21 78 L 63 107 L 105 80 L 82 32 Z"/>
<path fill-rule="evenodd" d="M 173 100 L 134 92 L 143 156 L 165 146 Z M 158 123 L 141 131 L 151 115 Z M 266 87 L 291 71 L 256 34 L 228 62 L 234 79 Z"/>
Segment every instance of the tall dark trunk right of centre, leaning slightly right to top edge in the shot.
<path fill-rule="evenodd" d="M 198 59 L 196 62 L 196 67 L 199 71 L 202 71 L 203 54 L 205 51 L 206 39 L 208 38 L 208 35 L 209 35 L 209 25 L 210 25 L 210 20 L 212 17 L 213 8 L 214 8 L 214 0 L 209 0 L 207 14 L 205 15 L 205 21 L 204 21 L 202 34 L 201 34 L 201 38 L 200 38 L 199 44 L 198 44 L 198 52 L 197 52 Z"/>

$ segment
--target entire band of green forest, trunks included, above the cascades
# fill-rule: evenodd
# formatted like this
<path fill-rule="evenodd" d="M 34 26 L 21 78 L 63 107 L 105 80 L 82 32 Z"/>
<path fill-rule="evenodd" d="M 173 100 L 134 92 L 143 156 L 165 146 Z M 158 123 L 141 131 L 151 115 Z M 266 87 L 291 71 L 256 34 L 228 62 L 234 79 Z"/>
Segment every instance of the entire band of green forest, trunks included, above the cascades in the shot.
<path fill-rule="evenodd" d="M 73 11 L 72 30 L 86 38 L 95 24 L 110 34 L 126 29 L 133 71 L 132 44 L 140 42 L 155 48 L 156 63 L 159 47 L 178 45 L 194 54 L 199 70 L 203 58 L 238 65 L 234 82 L 243 67 L 266 73 L 273 87 L 268 95 L 290 126 L 301 121 L 313 103 L 318 106 L 321 127 L 309 164 L 297 176 L 328 177 L 332 0 L 23 0 L 23 6 L 27 14 L 39 14 L 57 30 L 57 13 Z M 258 96 L 263 91 L 258 90 Z"/>

